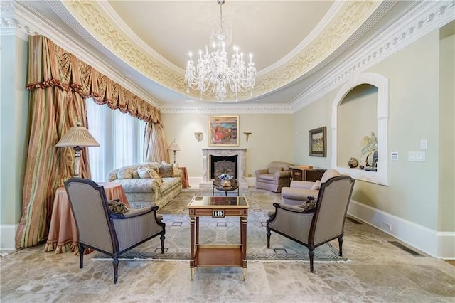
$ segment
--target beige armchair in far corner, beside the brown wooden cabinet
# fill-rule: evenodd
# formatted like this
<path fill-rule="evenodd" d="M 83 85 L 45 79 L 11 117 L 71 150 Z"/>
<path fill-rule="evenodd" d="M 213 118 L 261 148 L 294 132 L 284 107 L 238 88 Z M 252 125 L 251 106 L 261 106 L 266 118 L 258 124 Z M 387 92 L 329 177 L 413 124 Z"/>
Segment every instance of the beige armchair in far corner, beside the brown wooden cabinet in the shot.
<path fill-rule="evenodd" d="M 286 162 L 271 162 L 267 169 L 255 171 L 256 188 L 280 193 L 284 186 L 289 186 L 289 166 Z"/>

